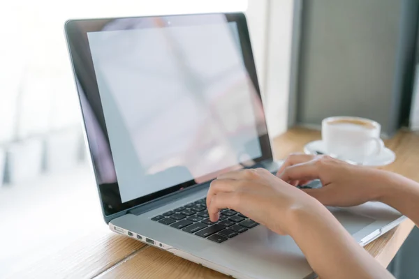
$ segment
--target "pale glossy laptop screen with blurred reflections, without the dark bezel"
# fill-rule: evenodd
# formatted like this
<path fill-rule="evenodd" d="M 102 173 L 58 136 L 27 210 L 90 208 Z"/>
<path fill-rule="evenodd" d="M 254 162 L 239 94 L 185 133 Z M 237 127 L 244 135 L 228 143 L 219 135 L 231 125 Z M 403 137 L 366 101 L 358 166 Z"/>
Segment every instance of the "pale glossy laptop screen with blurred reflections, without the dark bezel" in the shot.
<path fill-rule="evenodd" d="M 87 35 L 122 202 L 262 156 L 235 23 Z"/>

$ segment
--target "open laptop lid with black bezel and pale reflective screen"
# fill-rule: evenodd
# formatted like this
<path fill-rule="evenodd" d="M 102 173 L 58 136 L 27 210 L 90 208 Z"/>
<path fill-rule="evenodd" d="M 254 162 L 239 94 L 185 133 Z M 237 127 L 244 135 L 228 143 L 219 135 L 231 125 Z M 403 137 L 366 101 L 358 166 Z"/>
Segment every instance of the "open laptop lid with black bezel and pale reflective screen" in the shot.
<path fill-rule="evenodd" d="M 272 160 L 242 13 L 65 28 L 105 220 Z"/>

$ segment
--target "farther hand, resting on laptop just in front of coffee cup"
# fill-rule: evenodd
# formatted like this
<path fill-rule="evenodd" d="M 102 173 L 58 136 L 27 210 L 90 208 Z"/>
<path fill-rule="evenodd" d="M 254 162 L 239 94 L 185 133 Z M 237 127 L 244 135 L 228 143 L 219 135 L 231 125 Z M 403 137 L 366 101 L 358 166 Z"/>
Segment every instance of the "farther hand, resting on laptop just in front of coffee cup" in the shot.
<path fill-rule="evenodd" d="M 323 184 L 319 189 L 303 191 L 327 206 L 355 206 L 382 199 L 397 174 L 369 167 L 351 165 L 329 156 L 293 154 L 288 156 L 277 176 L 294 186 L 313 179 Z"/>

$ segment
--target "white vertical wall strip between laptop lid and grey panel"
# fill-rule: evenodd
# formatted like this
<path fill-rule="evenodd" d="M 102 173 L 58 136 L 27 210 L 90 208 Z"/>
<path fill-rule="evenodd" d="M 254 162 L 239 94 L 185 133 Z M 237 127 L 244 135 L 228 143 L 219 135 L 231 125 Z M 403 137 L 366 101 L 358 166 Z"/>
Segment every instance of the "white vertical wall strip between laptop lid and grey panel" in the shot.
<path fill-rule="evenodd" d="M 249 0 L 249 31 L 271 137 L 288 119 L 293 0 Z"/>

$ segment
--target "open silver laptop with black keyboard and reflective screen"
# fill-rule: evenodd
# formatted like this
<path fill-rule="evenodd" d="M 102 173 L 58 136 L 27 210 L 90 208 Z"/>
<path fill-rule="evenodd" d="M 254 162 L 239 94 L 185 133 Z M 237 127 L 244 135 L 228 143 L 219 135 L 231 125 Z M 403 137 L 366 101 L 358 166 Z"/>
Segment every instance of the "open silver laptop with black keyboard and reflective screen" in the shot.
<path fill-rule="evenodd" d="M 208 219 L 216 176 L 281 164 L 242 13 L 69 20 L 65 30 L 113 232 L 234 278 L 316 276 L 290 236 L 230 209 Z M 372 202 L 330 211 L 362 246 L 404 220 Z"/>

